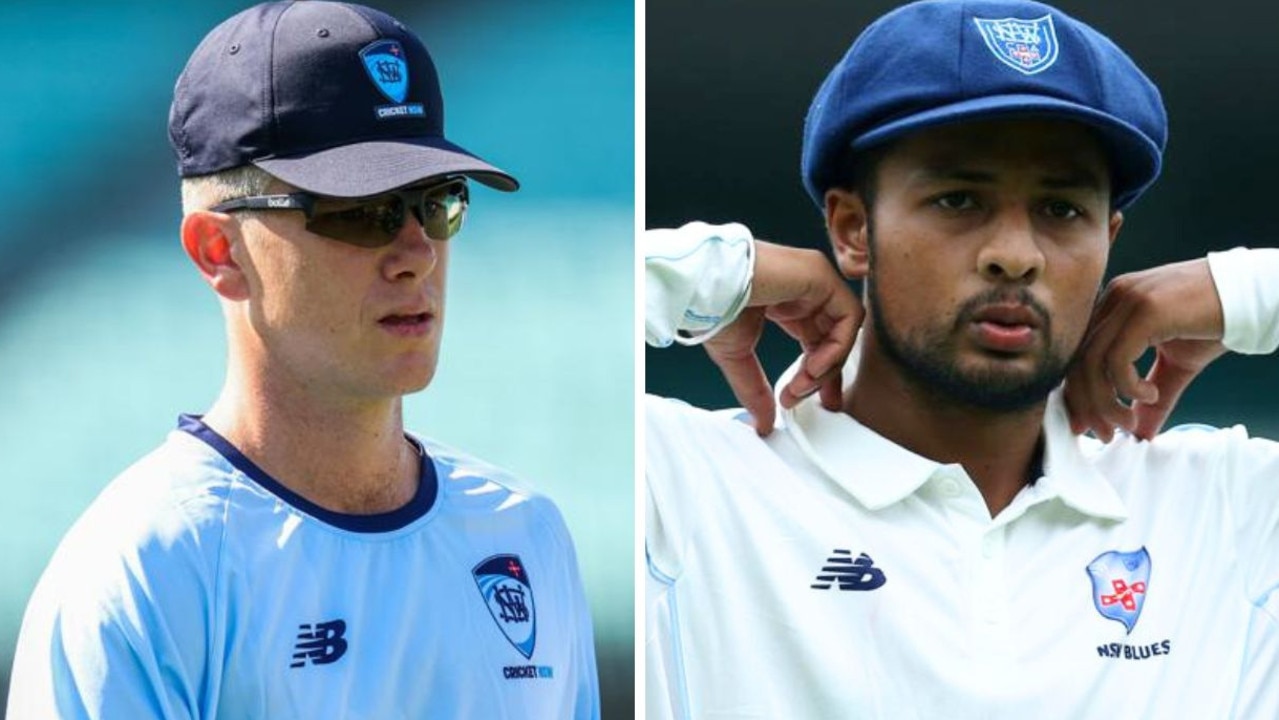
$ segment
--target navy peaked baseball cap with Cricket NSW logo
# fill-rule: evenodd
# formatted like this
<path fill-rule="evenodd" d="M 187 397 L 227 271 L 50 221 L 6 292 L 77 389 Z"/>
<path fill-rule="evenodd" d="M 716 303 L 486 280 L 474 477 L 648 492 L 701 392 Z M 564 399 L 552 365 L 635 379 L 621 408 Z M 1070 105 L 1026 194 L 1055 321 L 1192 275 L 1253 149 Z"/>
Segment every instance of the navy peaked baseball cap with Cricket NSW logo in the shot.
<path fill-rule="evenodd" d="M 183 178 L 240 165 L 335 197 L 437 175 L 519 183 L 444 137 L 422 41 L 349 3 L 265 3 L 214 28 L 174 87 L 169 141 Z"/>

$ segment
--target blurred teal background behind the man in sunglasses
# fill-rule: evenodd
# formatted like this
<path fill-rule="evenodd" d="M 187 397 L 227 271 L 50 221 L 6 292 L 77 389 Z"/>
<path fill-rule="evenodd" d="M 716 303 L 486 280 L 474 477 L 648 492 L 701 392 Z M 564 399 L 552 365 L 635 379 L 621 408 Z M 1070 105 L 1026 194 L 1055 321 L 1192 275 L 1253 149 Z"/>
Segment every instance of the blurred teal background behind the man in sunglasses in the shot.
<path fill-rule="evenodd" d="M 221 315 L 178 243 L 165 127 L 189 52 L 248 5 L 0 5 L 0 697 L 63 532 L 220 386 Z M 473 192 L 440 372 L 407 423 L 558 501 L 595 614 L 605 717 L 629 717 L 634 8 L 377 6 L 431 49 L 449 137 L 523 183 Z"/>

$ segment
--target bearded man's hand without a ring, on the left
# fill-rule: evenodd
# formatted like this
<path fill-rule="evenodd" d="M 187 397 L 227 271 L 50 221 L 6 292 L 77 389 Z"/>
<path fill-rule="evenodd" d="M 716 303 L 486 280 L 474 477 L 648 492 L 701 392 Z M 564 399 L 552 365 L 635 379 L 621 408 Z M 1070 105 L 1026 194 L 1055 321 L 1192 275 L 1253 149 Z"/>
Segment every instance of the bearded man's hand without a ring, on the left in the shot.
<path fill-rule="evenodd" d="M 738 318 L 706 341 L 706 352 L 728 380 L 760 435 L 773 432 L 776 405 L 755 348 L 771 320 L 799 340 L 803 363 L 781 389 L 781 407 L 794 407 L 815 391 L 826 409 L 840 407 L 840 370 L 862 322 L 862 304 L 824 254 L 811 249 L 755 243 L 751 298 Z"/>

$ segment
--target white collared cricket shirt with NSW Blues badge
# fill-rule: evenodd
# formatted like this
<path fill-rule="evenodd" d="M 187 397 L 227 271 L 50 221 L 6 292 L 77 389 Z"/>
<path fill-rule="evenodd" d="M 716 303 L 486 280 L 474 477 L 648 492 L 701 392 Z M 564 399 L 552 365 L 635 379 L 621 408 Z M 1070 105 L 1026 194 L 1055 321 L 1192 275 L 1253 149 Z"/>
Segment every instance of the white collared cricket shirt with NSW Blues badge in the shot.
<path fill-rule="evenodd" d="M 1279 252 L 1211 266 L 1228 341 L 1273 350 Z M 651 719 L 1279 716 L 1275 442 L 1181 427 L 1102 445 L 1054 394 L 1042 477 L 991 518 L 962 467 L 816 398 L 767 439 L 646 403 Z"/>

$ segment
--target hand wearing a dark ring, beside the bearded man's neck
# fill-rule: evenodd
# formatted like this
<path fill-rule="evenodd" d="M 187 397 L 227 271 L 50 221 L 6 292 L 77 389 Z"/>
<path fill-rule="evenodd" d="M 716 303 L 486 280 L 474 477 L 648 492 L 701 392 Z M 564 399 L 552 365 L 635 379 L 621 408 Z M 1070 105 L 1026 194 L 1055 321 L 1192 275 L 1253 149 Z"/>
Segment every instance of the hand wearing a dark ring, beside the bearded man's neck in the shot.
<path fill-rule="evenodd" d="M 1221 299 L 1206 260 L 1115 278 L 1067 376 L 1071 428 L 1092 430 L 1106 442 L 1117 427 L 1152 439 L 1182 391 L 1225 353 L 1223 333 Z M 1134 363 L 1149 348 L 1155 362 L 1142 379 Z"/>

